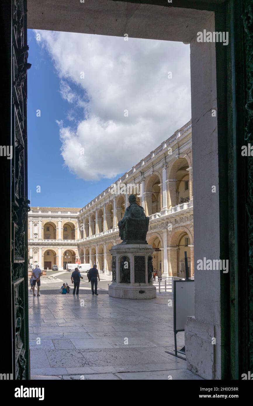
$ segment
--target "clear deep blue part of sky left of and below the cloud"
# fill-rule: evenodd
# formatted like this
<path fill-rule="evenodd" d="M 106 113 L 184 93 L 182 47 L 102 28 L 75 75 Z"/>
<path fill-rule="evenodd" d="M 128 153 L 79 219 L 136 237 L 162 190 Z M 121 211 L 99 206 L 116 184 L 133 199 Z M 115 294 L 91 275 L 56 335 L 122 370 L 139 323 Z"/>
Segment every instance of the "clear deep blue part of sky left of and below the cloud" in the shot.
<path fill-rule="evenodd" d="M 41 49 L 32 30 L 28 30 L 28 44 L 32 63 L 27 92 L 29 199 L 31 190 L 31 204 L 35 207 L 83 207 L 106 189 L 110 180 L 78 179 L 64 164 L 56 120 L 71 124 L 67 119 L 69 103 L 61 97 L 61 80 L 47 50 Z M 41 117 L 36 115 L 38 109 Z M 77 119 L 83 118 L 81 108 L 75 112 Z M 40 193 L 37 186 L 41 187 Z"/>

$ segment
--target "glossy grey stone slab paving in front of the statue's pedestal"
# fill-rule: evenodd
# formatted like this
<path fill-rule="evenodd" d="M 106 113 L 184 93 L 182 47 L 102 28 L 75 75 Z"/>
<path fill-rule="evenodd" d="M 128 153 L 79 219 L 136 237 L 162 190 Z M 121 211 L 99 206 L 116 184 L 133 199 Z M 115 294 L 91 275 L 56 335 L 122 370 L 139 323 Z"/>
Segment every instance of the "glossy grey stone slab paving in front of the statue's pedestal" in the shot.
<path fill-rule="evenodd" d="M 165 352 L 174 345 L 168 299 L 171 293 L 151 300 L 30 296 L 31 379 L 202 379 Z M 184 345 L 183 332 L 177 344 Z"/>

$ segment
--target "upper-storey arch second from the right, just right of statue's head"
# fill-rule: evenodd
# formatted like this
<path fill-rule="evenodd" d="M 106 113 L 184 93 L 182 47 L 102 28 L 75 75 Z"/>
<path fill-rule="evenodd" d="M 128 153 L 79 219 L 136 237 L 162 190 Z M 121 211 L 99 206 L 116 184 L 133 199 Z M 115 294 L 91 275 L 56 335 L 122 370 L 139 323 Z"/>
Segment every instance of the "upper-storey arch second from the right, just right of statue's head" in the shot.
<path fill-rule="evenodd" d="M 162 207 L 161 175 L 154 172 L 145 180 L 145 212 L 147 216 L 158 213 Z"/>

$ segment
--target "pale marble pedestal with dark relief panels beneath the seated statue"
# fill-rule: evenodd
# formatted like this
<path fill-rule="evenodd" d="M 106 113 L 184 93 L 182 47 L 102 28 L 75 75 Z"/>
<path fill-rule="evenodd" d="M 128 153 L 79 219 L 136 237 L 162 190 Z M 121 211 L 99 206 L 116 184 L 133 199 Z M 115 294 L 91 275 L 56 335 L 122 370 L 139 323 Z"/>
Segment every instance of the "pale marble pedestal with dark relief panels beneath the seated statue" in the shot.
<path fill-rule="evenodd" d="M 109 296 L 120 299 L 153 299 L 156 298 L 156 287 L 148 282 L 147 260 L 152 256 L 154 248 L 148 244 L 117 244 L 112 246 L 112 284 Z M 123 257 L 127 257 L 130 265 L 130 283 L 125 283 L 125 275 L 121 270 Z M 128 265 L 128 266 L 129 266 Z M 124 268 L 127 269 L 128 268 Z"/>

